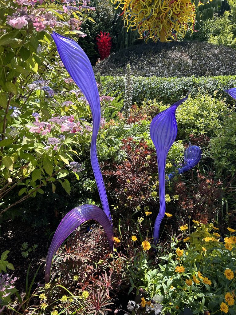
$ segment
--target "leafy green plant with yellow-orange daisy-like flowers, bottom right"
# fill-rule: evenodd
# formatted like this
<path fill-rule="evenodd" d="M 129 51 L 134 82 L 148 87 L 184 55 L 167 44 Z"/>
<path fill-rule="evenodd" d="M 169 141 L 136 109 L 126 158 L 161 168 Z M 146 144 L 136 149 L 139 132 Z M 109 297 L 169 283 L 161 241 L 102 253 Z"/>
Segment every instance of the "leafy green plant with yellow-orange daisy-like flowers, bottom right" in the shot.
<path fill-rule="evenodd" d="M 128 272 L 131 290 L 137 289 L 137 294 L 143 290 L 144 307 L 159 296 L 163 311 L 170 314 L 179 314 L 184 307 L 193 314 L 235 314 L 236 237 L 226 235 L 225 243 L 219 242 L 221 236 L 213 224 L 197 221 L 190 235 L 188 225 L 181 229 L 183 242 L 173 237 L 158 247 L 155 256 L 150 251 L 148 255 L 149 242 L 133 242 L 136 256 Z"/>

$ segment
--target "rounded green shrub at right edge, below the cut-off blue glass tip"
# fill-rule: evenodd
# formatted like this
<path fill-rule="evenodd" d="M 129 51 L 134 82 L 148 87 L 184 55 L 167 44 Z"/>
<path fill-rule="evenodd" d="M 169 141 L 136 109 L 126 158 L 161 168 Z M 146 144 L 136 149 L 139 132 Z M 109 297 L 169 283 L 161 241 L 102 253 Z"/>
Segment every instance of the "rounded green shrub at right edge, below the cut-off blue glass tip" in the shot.
<path fill-rule="evenodd" d="M 236 113 L 226 116 L 211 139 L 210 154 L 220 178 L 236 175 Z"/>

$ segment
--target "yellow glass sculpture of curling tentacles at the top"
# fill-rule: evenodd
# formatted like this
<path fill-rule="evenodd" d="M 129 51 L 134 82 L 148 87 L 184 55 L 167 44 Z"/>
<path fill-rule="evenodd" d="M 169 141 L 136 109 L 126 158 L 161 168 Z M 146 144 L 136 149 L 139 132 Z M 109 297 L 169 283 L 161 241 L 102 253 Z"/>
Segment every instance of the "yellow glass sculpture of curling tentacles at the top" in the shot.
<path fill-rule="evenodd" d="M 212 0 L 209 0 L 211 2 Z M 193 32 L 196 7 L 191 0 L 114 0 L 123 10 L 127 31 L 138 30 L 140 38 L 157 42 L 175 40 L 177 35 Z M 199 2 L 199 5 L 201 3 Z"/>

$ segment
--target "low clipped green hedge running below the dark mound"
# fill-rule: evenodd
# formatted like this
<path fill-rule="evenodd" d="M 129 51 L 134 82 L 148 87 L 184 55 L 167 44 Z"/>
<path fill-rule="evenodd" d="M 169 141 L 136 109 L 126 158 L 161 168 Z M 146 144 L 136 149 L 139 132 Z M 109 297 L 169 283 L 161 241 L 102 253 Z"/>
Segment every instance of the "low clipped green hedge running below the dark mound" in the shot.
<path fill-rule="evenodd" d="M 199 93 L 208 94 L 217 98 L 226 98 L 229 104 L 233 99 L 224 93 L 224 89 L 236 86 L 235 76 L 218 77 L 133 77 L 133 103 L 138 105 L 144 99 L 162 101 L 164 104 L 172 104 L 185 96 L 189 91 L 192 96 Z M 101 83 L 107 95 L 119 96 L 125 90 L 125 77 L 101 77 Z"/>

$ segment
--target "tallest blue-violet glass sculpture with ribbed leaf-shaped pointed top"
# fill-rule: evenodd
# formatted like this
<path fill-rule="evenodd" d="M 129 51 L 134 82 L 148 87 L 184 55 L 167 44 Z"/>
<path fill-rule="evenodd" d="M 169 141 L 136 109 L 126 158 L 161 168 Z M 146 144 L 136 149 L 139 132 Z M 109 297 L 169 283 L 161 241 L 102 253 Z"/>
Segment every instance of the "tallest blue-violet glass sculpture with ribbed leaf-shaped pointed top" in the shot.
<path fill-rule="evenodd" d="M 107 194 L 97 156 L 96 142 L 101 121 L 101 105 L 93 68 L 83 49 L 73 39 L 59 35 L 54 31 L 51 36 L 56 43 L 61 61 L 81 89 L 91 108 L 93 116 L 93 135 L 90 149 L 91 164 L 103 210 L 111 221 Z"/>

